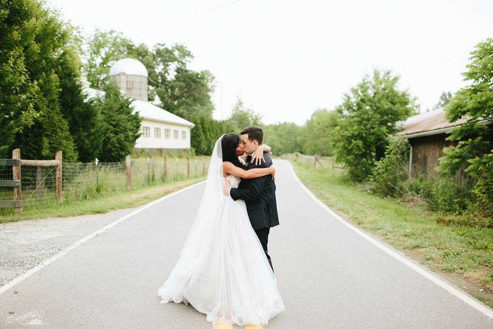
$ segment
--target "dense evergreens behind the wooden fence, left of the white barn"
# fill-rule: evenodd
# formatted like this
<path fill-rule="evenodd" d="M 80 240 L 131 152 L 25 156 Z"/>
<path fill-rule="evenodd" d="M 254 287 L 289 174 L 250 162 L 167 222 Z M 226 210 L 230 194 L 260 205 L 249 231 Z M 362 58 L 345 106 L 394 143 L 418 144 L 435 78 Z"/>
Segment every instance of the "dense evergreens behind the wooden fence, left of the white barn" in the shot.
<path fill-rule="evenodd" d="M 3 1 L 0 13 L 0 157 L 119 161 L 141 119 L 116 86 L 87 99 L 78 30 L 38 1 Z"/>

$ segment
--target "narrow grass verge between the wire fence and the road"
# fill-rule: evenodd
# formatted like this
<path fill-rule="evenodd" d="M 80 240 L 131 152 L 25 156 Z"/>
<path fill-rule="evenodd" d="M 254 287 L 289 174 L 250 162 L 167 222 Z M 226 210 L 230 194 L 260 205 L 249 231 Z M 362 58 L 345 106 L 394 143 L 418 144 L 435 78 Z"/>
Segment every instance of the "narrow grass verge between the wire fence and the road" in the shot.
<path fill-rule="evenodd" d="M 17 222 L 34 218 L 68 217 L 85 214 L 106 213 L 121 208 L 133 208 L 149 203 L 161 196 L 193 185 L 204 177 L 182 181 L 166 182 L 152 187 L 143 187 L 131 191 L 102 195 L 90 200 L 67 200 L 63 203 L 50 203 L 40 208 L 28 208 L 20 215 L 6 214 L 0 216 L 0 223 Z"/>

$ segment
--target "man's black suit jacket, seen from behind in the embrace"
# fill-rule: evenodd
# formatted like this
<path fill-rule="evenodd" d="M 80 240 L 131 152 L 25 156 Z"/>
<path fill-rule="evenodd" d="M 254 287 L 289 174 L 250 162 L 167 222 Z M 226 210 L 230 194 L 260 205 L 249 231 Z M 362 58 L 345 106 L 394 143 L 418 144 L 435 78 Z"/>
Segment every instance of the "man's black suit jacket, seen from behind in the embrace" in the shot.
<path fill-rule="evenodd" d="M 269 153 L 264 152 L 266 162 L 258 165 L 251 163 L 252 158 L 247 158 L 246 169 L 267 168 L 272 166 Z M 272 175 L 266 175 L 253 179 L 241 179 L 237 189 L 231 189 L 233 200 L 242 199 L 247 204 L 247 212 L 254 230 L 279 225 L 276 204 L 276 184 Z"/>

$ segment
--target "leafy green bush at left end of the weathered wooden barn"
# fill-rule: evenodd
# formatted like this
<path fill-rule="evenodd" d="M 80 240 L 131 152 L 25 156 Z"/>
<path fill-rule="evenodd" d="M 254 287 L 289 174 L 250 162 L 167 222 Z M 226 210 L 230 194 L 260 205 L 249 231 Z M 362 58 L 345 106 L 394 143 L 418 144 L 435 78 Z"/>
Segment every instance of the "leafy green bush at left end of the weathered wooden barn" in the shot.
<path fill-rule="evenodd" d="M 370 177 L 369 189 L 374 194 L 400 196 L 402 182 L 408 178 L 407 161 L 409 142 L 401 137 L 391 137 L 385 150 L 385 157 L 375 162 Z"/>

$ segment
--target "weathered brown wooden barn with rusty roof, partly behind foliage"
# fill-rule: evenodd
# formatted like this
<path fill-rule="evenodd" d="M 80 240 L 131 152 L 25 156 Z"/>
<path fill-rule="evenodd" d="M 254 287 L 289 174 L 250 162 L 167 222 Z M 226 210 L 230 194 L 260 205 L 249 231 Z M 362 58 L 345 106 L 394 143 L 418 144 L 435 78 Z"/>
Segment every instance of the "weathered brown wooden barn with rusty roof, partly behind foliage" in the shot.
<path fill-rule="evenodd" d="M 443 155 L 443 148 L 456 143 L 445 140 L 449 136 L 446 132 L 466 121 L 461 119 L 450 122 L 445 118 L 443 108 L 439 108 L 409 117 L 402 122 L 403 130 L 395 135 L 407 138 L 411 144 L 409 172 L 412 175 L 425 174 L 428 177 L 436 177 L 438 172 L 435 168 L 440 164 L 438 159 Z M 460 173 L 459 178 L 462 178 L 462 175 L 463 173 Z"/>

